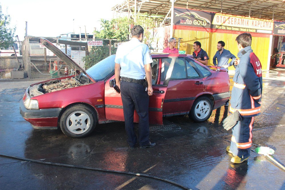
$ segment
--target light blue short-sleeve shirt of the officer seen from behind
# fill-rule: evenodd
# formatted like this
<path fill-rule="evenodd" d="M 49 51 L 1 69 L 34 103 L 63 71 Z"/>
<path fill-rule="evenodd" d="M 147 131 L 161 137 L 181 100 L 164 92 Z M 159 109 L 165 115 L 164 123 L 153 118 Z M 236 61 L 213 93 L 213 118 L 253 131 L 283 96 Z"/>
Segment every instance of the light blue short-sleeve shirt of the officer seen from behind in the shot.
<path fill-rule="evenodd" d="M 144 79 L 144 65 L 152 63 L 152 58 L 148 46 L 132 38 L 118 47 L 115 63 L 121 65 L 120 76 Z"/>

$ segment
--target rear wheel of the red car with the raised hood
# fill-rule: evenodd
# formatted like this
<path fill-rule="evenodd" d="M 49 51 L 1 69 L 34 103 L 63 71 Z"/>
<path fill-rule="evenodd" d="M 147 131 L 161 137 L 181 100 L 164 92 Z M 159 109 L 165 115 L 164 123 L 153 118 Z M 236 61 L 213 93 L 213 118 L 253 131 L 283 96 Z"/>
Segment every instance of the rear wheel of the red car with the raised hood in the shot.
<path fill-rule="evenodd" d="M 197 98 L 190 110 L 190 117 L 195 122 L 207 121 L 213 111 L 213 102 L 206 96 Z"/>

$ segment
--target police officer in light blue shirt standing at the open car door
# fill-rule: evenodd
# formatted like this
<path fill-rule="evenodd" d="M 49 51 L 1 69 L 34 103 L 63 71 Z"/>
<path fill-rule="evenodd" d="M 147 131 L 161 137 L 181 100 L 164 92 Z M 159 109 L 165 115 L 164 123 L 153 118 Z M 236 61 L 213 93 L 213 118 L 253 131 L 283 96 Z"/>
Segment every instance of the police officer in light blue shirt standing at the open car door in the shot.
<path fill-rule="evenodd" d="M 131 149 L 135 148 L 137 136 L 134 131 L 134 111 L 139 115 L 140 148 L 153 147 L 149 141 L 148 102 L 152 95 L 151 66 L 152 58 L 149 48 L 143 44 L 143 27 L 136 25 L 131 34 L 132 39 L 120 45 L 115 58 L 115 78 L 121 90 L 123 102 L 127 142 Z M 121 80 L 120 79 L 121 76 Z M 144 90 L 145 78 L 148 83 Z"/>

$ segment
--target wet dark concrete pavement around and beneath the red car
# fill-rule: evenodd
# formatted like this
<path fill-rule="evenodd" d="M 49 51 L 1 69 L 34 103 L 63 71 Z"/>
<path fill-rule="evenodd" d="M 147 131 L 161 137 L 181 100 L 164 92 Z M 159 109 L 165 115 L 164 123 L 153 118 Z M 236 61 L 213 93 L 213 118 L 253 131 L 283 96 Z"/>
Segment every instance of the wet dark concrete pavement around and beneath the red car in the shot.
<path fill-rule="evenodd" d="M 230 162 L 231 132 L 221 127 L 224 106 L 207 122 L 188 116 L 152 126 L 152 148 L 129 149 L 124 122 L 100 124 L 87 138 L 60 130 L 35 130 L 19 114 L 19 101 L 36 81 L 0 82 L 0 153 L 102 169 L 144 173 L 191 189 L 285 189 L 285 172 L 254 151 L 245 163 Z M 285 163 L 285 69 L 263 72 L 262 114 L 255 118 L 253 145 L 275 150 Z M 146 177 L 51 166 L 0 156 L 0 189 L 180 189 Z"/>

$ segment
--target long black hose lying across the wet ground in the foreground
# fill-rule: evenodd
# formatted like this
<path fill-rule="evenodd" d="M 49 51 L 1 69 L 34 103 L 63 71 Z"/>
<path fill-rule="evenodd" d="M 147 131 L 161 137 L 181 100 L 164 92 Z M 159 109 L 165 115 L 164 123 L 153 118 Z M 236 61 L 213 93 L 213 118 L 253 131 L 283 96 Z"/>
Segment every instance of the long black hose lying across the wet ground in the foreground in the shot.
<path fill-rule="evenodd" d="M 19 160 L 25 160 L 25 161 L 30 161 L 30 162 L 36 162 L 36 163 L 41 163 L 41 164 L 48 164 L 48 165 L 57 165 L 57 166 L 64 166 L 64 167 L 71 167 L 71 168 L 78 168 L 78 169 L 88 169 L 88 170 L 104 171 L 104 172 L 110 172 L 110 173 L 121 173 L 121 174 L 127 174 L 127 175 L 143 176 L 143 177 L 148 177 L 148 178 L 164 181 L 164 182 L 170 183 L 172 185 L 176 185 L 178 187 L 181 187 L 182 189 L 189 189 L 188 187 L 185 187 L 184 185 L 181 185 L 181 184 L 176 183 L 174 181 L 170 181 L 168 179 L 162 179 L 160 177 L 155 177 L 155 176 L 147 175 L 147 174 L 143 174 L 143 173 L 133 173 L 133 172 L 126 172 L 126 171 L 116 171 L 116 170 L 93 168 L 93 167 L 85 167 L 85 166 L 77 166 L 77 165 L 69 165 L 69 164 L 62 164 L 62 163 L 45 162 L 45 161 L 41 161 L 41 160 L 22 158 L 22 157 L 5 155 L 5 154 L 0 154 L 0 156 L 9 157 L 9 158 L 15 158 L 15 159 L 19 159 Z M 191 190 L 191 189 L 189 189 L 189 190 Z"/>

